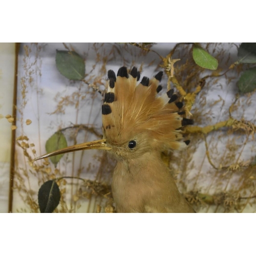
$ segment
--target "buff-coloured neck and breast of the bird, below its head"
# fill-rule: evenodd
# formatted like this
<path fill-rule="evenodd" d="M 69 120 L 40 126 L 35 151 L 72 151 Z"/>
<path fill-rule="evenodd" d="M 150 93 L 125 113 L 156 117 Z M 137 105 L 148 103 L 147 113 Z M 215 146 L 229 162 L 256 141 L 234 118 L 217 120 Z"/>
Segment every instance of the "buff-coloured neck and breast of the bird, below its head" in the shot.
<path fill-rule="evenodd" d="M 112 194 L 117 212 L 194 212 L 158 158 L 118 162 Z"/>

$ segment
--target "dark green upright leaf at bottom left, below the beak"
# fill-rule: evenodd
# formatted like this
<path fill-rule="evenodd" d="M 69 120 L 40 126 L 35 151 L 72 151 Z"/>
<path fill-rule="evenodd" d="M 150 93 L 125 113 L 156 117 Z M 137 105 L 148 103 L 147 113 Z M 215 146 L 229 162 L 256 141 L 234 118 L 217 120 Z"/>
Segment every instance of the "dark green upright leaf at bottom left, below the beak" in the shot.
<path fill-rule="evenodd" d="M 58 206 L 60 191 L 54 180 L 48 180 L 38 191 L 38 205 L 41 213 L 51 213 Z"/>

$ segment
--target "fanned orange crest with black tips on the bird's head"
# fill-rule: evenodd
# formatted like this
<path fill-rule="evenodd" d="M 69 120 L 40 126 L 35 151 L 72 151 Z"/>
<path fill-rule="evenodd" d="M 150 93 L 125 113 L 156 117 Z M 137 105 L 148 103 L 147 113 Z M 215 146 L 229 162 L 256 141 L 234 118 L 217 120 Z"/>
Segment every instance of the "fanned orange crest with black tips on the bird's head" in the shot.
<path fill-rule="evenodd" d="M 193 124 L 193 120 L 181 117 L 183 107 L 174 90 L 158 97 L 163 72 L 152 79 L 143 77 L 133 68 L 130 73 L 121 67 L 117 76 L 108 72 L 108 91 L 102 105 L 103 135 L 111 144 L 121 145 L 139 133 L 147 133 L 163 148 L 181 150 L 189 141 L 180 141 L 180 128 Z"/>

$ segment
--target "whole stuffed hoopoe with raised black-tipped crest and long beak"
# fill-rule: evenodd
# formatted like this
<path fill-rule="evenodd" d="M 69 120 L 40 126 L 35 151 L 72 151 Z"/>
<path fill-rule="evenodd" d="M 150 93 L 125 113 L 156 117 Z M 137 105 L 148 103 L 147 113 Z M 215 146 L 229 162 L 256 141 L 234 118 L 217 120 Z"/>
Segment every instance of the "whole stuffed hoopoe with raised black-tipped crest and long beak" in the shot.
<path fill-rule="evenodd" d="M 69 146 L 35 160 L 78 150 L 106 150 L 117 159 L 112 195 L 117 212 L 195 212 L 180 194 L 170 170 L 161 159 L 165 150 L 183 150 L 183 104 L 174 90 L 158 96 L 163 72 L 151 80 L 133 68 L 108 72 L 102 105 L 103 139 Z"/>

